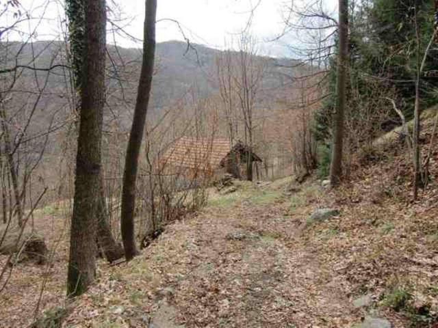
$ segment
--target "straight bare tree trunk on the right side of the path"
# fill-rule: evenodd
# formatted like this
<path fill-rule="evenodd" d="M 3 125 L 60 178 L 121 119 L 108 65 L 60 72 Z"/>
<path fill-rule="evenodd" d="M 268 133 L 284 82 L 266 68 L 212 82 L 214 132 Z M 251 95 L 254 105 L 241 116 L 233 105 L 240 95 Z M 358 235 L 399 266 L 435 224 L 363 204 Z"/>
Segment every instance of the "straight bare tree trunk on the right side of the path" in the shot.
<path fill-rule="evenodd" d="M 330 181 L 335 187 L 342 179 L 346 74 L 348 68 L 348 0 L 339 0 L 339 55 L 337 64 L 337 108 L 333 120 L 333 152 Z"/>

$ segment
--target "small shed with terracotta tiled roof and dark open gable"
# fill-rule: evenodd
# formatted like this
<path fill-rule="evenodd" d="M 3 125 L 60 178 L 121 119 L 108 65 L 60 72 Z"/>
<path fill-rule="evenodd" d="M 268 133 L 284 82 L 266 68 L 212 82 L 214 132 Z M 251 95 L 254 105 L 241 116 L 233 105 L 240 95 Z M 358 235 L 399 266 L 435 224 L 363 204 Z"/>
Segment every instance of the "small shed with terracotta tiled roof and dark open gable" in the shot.
<path fill-rule="evenodd" d="M 235 178 L 244 176 L 248 159 L 261 162 L 257 154 L 250 151 L 242 141 L 231 145 L 228 139 L 196 139 L 181 137 L 168 148 L 162 164 L 182 172 L 186 177 L 221 176 L 233 174 Z"/>

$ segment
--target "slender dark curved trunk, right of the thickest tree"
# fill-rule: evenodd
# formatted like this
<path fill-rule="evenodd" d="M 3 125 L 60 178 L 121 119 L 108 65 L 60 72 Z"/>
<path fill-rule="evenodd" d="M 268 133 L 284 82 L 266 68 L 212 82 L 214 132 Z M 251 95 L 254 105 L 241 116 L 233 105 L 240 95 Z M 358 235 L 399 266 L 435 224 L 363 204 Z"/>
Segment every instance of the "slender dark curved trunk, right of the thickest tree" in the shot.
<path fill-rule="evenodd" d="M 144 19 L 144 41 L 142 70 L 138 83 L 136 109 L 134 110 L 131 133 L 129 135 L 123 174 L 121 230 L 125 257 L 129 261 L 138 253 L 134 235 L 134 210 L 136 208 L 136 180 L 138 157 L 142 143 L 146 113 L 152 88 L 153 66 L 155 61 L 155 18 L 157 0 L 146 0 Z"/>

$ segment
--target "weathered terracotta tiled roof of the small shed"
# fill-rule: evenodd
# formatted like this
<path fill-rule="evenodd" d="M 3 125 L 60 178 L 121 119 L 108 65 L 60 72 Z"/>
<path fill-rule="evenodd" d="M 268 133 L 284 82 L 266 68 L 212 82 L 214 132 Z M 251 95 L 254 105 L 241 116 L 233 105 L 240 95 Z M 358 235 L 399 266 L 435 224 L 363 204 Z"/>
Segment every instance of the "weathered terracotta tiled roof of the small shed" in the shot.
<path fill-rule="evenodd" d="M 164 154 L 166 165 L 189 169 L 217 169 L 220 161 L 230 152 L 228 139 L 178 139 Z"/>

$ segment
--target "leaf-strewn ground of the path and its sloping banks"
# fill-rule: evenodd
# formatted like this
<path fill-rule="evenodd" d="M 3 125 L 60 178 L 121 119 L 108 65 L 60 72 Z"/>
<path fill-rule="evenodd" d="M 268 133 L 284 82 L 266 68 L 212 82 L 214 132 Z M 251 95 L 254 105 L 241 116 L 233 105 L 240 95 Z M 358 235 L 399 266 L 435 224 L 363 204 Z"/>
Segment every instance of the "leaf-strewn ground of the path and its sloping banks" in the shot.
<path fill-rule="evenodd" d="M 427 149 L 433 120 L 423 127 Z M 55 267 L 16 268 L 1 327 L 31 320 L 40 289 L 31 282 L 41 277 L 40 306 L 51 309 L 47 320 L 65 316 L 63 327 L 437 327 L 437 181 L 411 202 L 404 147 L 391 142 L 374 155 L 335 191 L 314 178 L 211 189 L 206 208 L 133 261 L 100 264 L 98 283 L 67 306 L 64 234 L 51 241 Z M 42 210 L 36 224 L 50 231 L 47 217 L 60 224 L 64 206 Z"/>

